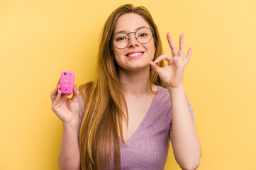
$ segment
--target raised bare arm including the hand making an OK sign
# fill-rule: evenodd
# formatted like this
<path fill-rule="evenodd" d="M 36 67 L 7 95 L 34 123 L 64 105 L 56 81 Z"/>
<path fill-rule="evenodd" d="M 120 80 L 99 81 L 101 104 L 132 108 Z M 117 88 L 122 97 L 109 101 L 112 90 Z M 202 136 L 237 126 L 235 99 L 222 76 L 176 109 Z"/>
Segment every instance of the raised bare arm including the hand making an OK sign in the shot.
<path fill-rule="evenodd" d="M 196 169 L 201 157 L 201 145 L 189 113 L 186 95 L 183 88 L 184 67 L 189 62 L 192 48 L 184 58 L 184 34 L 179 36 L 179 51 L 171 36 L 167 33 L 172 56 L 164 54 L 150 61 L 152 69 L 159 75 L 169 90 L 172 104 L 172 130 L 169 136 L 172 142 L 174 157 L 182 169 Z M 167 61 L 166 67 L 158 67 L 157 62 Z"/>

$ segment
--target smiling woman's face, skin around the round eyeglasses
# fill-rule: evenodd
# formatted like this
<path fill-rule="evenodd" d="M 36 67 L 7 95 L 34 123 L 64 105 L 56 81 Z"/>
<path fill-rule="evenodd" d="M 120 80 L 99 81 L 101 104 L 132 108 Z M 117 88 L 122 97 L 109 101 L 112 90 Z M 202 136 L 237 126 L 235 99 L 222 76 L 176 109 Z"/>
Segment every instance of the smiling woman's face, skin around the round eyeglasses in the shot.
<path fill-rule="evenodd" d="M 136 32 L 139 28 L 150 28 L 148 23 L 138 14 L 126 13 L 118 18 L 116 23 L 116 33 Z M 138 35 L 137 35 L 138 36 Z M 129 43 L 124 49 L 113 47 L 113 53 L 120 69 L 128 71 L 138 71 L 150 67 L 148 62 L 153 60 L 155 54 L 155 45 L 153 38 L 147 44 L 141 44 L 136 40 L 135 33 L 128 35 Z"/>

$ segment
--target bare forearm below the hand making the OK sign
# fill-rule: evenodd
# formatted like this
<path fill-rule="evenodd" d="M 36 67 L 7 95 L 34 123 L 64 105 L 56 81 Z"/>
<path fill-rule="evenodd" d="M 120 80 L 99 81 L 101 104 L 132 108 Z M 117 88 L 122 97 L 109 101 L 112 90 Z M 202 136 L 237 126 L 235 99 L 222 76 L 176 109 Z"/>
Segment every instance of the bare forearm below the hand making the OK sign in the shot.
<path fill-rule="evenodd" d="M 170 138 L 174 157 L 182 169 L 196 169 L 201 157 L 201 145 L 189 113 L 184 88 L 169 89 L 172 102 Z"/>

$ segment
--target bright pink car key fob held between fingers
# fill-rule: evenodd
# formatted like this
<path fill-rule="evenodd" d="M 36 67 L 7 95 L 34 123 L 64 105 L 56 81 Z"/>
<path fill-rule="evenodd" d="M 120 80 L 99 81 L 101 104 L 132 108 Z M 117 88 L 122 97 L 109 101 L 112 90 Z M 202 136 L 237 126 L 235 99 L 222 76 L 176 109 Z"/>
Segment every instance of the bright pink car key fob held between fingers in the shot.
<path fill-rule="evenodd" d="M 64 71 L 60 76 L 60 91 L 62 94 L 69 95 L 74 89 L 74 72 Z"/>

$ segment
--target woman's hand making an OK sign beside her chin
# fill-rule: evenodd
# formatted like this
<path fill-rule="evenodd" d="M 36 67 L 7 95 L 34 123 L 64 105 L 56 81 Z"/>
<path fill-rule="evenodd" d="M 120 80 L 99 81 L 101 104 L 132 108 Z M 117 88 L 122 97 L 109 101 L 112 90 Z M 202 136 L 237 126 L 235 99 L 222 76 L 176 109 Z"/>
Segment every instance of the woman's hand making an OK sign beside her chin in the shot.
<path fill-rule="evenodd" d="M 184 67 L 189 62 L 193 47 L 189 48 L 187 57 L 184 58 L 184 33 L 179 36 L 179 51 L 174 45 L 169 32 L 167 33 L 167 40 L 169 42 L 169 47 L 171 47 L 172 50 L 172 56 L 167 54 L 160 55 L 160 57 L 157 57 L 155 62 L 150 61 L 150 65 L 152 69 L 159 75 L 167 89 L 179 88 L 183 86 L 182 81 Z M 161 62 L 162 60 L 167 60 L 168 64 L 166 67 L 157 66 L 156 63 Z"/>

